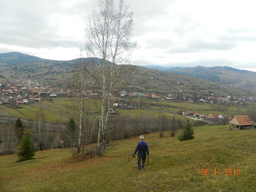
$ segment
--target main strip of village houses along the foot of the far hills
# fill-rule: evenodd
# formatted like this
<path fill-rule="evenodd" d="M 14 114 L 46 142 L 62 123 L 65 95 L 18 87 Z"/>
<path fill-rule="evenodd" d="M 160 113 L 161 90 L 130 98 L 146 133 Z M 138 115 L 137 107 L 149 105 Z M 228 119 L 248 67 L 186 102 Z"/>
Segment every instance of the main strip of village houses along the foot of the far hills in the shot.
<path fill-rule="evenodd" d="M 92 83 L 95 87 L 95 83 Z M 227 104 L 232 106 L 244 105 L 245 101 L 256 102 L 256 96 L 220 96 L 211 93 L 209 95 L 185 94 L 179 90 L 178 94 L 157 94 L 152 90 L 146 90 L 144 87 L 129 86 L 129 92 L 125 90 L 114 90 L 111 96 L 114 98 L 140 97 L 148 99 L 162 99 L 167 101 L 184 101 L 189 103 L 214 103 Z M 139 91 L 137 91 L 139 90 Z M 144 92 L 141 92 L 144 91 Z M 14 82 L 3 82 L 0 84 L 0 104 L 10 104 L 16 102 L 17 105 L 29 104 L 30 102 L 39 102 L 42 99 L 54 97 L 75 97 L 76 90 L 53 87 L 47 83 L 35 83 L 31 80 L 19 79 Z M 102 94 L 102 90 L 87 90 L 84 93 L 86 97 L 97 97 Z"/>

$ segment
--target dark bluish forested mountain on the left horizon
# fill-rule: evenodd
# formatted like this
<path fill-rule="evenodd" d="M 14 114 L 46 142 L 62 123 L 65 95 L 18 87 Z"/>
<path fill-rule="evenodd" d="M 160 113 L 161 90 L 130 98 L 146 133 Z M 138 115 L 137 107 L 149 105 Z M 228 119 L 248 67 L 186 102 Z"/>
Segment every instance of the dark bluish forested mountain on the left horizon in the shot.
<path fill-rule="evenodd" d="M 44 61 L 52 61 L 49 59 L 42 59 L 32 55 L 10 52 L 10 53 L 0 53 L 0 63 L 7 65 L 16 65 L 21 63 L 38 63 Z"/>

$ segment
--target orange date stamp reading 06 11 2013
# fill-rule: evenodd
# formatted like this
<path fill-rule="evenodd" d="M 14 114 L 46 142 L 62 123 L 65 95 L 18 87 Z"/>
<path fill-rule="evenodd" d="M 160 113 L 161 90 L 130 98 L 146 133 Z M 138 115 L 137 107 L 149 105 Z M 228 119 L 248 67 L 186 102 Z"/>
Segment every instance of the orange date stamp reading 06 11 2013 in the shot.
<path fill-rule="evenodd" d="M 224 169 L 223 169 L 224 170 Z M 210 170 L 210 169 L 207 169 L 207 168 L 203 168 L 201 169 L 201 175 L 211 175 L 211 174 L 214 174 L 214 175 L 226 175 L 226 176 L 231 176 L 231 175 L 240 175 L 240 169 L 239 168 L 235 168 L 235 169 L 231 169 L 231 168 L 226 168 L 225 171 L 223 171 L 221 169 L 213 169 L 213 170 Z"/>

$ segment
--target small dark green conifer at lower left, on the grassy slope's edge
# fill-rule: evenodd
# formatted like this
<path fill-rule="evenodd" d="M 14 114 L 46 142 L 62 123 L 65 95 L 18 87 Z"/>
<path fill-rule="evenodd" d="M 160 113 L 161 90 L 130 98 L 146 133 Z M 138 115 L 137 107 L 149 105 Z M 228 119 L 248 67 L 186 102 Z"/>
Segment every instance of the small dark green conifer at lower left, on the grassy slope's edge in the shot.
<path fill-rule="evenodd" d="M 21 144 L 19 146 L 18 161 L 26 161 L 30 159 L 34 159 L 35 148 L 30 139 L 30 132 L 28 130 L 24 131 L 24 135 L 21 138 Z"/>

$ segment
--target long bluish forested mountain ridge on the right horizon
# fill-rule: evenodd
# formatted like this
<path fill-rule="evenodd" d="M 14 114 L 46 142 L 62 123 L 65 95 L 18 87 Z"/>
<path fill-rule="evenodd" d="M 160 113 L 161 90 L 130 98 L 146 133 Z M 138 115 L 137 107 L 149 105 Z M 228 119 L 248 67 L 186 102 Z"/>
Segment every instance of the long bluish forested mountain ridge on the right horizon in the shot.
<path fill-rule="evenodd" d="M 254 89 L 256 84 L 256 72 L 235 69 L 232 67 L 189 67 L 168 68 L 165 71 L 180 75 L 206 79 L 225 85 L 233 85 L 243 89 Z"/>

